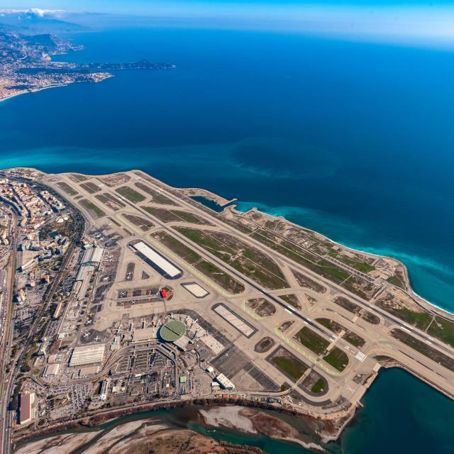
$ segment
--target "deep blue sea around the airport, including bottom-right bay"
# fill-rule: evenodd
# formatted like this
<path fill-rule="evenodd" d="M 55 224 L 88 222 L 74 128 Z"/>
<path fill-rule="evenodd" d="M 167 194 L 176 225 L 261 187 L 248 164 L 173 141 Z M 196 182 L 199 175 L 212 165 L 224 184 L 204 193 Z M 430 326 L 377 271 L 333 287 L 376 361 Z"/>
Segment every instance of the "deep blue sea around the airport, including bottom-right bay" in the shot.
<path fill-rule="evenodd" d="M 85 50 L 60 60 L 177 67 L 1 103 L 0 167 L 139 168 L 235 196 L 402 260 L 416 292 L 454 312 L 454 52 L 177 23 L 70 38 Z M 453 402 L 384 377 L 343 452 L 453 452 Z"/>

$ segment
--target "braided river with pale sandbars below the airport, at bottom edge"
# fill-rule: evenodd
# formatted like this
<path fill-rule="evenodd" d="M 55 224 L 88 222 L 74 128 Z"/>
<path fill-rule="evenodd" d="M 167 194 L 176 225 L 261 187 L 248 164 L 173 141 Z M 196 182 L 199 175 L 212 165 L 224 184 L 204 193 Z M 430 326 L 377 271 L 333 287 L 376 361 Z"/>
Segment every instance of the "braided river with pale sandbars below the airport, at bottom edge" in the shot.
<path fill-rule="evenodd" d="M 243 430 L 239 430 L 236 426 L 226 427 L 222 423 L 209 423 L 204 418 L 204 412 L 220 411 L 228 413 L 228 409 L 234 409 L 236 407 L 205 407 L 199 405 L 188 405 L 180 408 L 173 409 L 160 409 L 155 411 L 141 411 L 136 414 L 121 416 L 117 419 L 112 419 L 106 423 L 96 427 L 79 427 L 71 428 L 66 431 L 60 431 L 50 433 L 45 436 L 28 439 L 26 442 L 17 443 L 14 446 L 14 452 L 25 453 L 33 448 L 33 453 L 45 453 L 45 450 L 35 450 L 35 446 L 43 446 L 47 449 L 49 445 L 60 445 L 62 441 L 56 440 L 56 437 L 68 436 L 65 439 L 65 446 L 70 450 L 62 450 L 62 453 L 82 454 L 89 450 L 89 452 L 101 452 L 98 451 L 99 447 L 103 447 L 107 444 L 106 440 L 115 441 L 118 443 L 125 443 L 126 441 L 134 441 L 134 438 L 140 434 L 140 431 L 148 430 L 151 434 L 156 428 L 157 431 L 194 431 L 214 439 L 215 441 L 233 443 L 234 445 L 242 446 L 253 446 L 260 448 L 266 453 L 278 454 L 278 453 L 289 453 L 289 454 L 300 454 L 310 453 L 309 450 L 304 447 L 304 444 L 311 445 L 314 443 L 314 447 L 319 443 L 319 437 L 311 433 L 311 428 L 308 426 L 306 421 L 294 418 L 285 414 L 281 414 L 277 411 L 267 411 L 262 409 L 247 409 L 246 407 L 238 407 L 246 411 L 254 411 L 257 414 L 270 416 L 276 421 L 282 421 L 288 425 L 293 431 L 294 436 L 299 436 L 299 440 L 279 440 L 266 436 L 262 433 L 255 431 L 252 426 L 250 428 L 243 427 Z M 226 416 L 231 416 L 230 414 Z M 249 429 L 249 430 L 248 430 Z M 175 432 L 177 433 L 177 432 Z M 298 435 L 300 434 L 300 435 Z M 73 438 L 72 438 L 73 437 Z M 118 438 L 118 439 L 117 439 Z M 70 443 L 70 444 L 68 444 Z M 103 445 L 104 443 L 104 445 Z"/>

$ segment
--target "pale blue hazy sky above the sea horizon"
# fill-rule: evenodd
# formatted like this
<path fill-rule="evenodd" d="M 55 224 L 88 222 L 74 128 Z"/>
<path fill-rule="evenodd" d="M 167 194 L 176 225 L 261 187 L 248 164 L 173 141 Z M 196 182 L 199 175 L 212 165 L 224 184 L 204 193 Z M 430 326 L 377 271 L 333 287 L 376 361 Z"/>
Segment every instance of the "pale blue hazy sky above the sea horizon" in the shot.
<path fill-rule="evenodd" d="M 454 0 L 0 0 L 0 9 L 62 9 L 211 20 L 454 48 Z"/>

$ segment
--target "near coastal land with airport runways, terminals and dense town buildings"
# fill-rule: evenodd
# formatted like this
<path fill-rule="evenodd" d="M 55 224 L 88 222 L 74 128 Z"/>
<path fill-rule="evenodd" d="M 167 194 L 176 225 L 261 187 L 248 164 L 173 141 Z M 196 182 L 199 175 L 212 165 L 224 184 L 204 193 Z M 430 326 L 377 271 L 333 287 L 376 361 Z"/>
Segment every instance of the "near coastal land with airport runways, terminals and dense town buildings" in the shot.
<path fill-rule="evenodd" d="M 304 417 L 327 443 L 381 367 L 454 397 L 453 317 L 401 262 L 204 189 L 2 171 L 0 260 L 4 453 L 189 402 Z"/>

